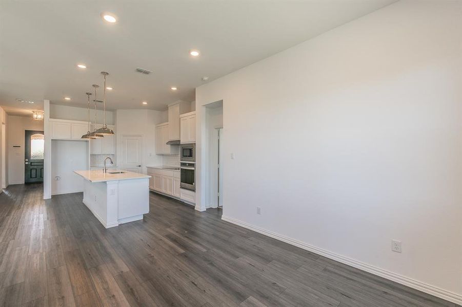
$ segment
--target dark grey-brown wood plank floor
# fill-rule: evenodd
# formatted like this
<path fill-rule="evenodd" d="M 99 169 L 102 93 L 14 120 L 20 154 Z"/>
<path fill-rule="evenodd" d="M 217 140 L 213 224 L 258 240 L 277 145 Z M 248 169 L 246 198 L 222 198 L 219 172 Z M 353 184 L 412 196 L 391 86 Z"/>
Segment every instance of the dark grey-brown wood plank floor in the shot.
<path fill-rule="evenodd" d="M 455 306 L 152 192 L 105 229 L 82 196 L 0 194 L 0 306 Z"/>

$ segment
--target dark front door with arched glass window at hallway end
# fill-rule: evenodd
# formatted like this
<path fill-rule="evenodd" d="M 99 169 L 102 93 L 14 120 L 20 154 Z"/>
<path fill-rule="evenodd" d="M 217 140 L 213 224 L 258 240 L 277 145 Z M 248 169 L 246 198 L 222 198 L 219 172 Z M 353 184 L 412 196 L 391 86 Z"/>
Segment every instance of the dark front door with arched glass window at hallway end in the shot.
<path fill-rule="evenodd" d="M 25 130 L 25 183 L 43 182 L 44 146 L 43 131 Z"/>

